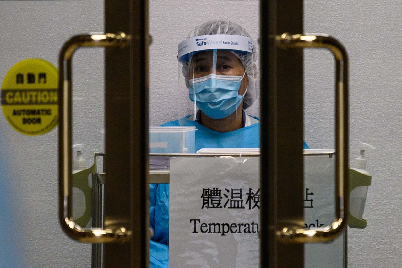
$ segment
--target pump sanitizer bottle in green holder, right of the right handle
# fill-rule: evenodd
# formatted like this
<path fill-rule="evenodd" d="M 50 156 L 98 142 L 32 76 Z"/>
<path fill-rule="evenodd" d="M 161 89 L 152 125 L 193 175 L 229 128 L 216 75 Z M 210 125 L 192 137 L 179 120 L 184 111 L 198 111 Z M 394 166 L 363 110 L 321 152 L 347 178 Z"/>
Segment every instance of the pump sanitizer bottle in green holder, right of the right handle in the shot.
<path fill-rule="evenodd" d="M 365 151 L 367 149 L 375 149 L 375 147 L 367 143 L 360 143 L 360 153 L 353 161 L 351 169 L 371 178 L 371 174 L 366 170 L 367 159 L 365 158 Z M 369 186 L 359 186 L 350 194 L 349 212 L 359 219 L 363 217 L 368 188 Z"/>

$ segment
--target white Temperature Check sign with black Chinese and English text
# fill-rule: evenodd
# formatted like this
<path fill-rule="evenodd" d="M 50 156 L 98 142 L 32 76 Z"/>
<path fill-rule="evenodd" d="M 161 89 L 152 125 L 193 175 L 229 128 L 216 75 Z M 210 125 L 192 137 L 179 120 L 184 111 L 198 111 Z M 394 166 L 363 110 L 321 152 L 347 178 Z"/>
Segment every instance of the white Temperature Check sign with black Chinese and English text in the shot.
<path fill-rule="evenodd" d="M 170 159 L 169 266 L 259 267 L 260 158 Z M 306 229 L 334 220 L 335 157 L 304 156 Z M 343 238 L 305 246 L 305 266 L 343 265 Z"/>

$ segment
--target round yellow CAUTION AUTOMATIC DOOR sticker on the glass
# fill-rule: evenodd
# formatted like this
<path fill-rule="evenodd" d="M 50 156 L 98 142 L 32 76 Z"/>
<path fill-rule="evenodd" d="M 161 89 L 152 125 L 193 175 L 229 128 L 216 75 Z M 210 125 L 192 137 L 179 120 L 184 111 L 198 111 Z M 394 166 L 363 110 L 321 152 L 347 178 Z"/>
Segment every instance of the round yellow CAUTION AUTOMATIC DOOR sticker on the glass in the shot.
<path fill-rule="evenodd" d="M 24 59 L 7 72 L 1 87 L 1 108 L 19 133 L 41 135 L 59 121 L 58 71 L 44 59 Z"/>

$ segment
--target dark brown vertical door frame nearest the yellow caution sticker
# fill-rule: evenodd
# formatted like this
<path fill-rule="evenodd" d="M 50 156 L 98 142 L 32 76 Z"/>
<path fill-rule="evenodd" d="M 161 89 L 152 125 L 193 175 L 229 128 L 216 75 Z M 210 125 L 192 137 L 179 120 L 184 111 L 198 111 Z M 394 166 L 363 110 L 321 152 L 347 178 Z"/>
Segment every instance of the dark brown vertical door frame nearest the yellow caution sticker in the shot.
<path fill-rule="evenodd" d="M 131 36 L 105 49 L 105 228 L 131 230 L 105 244 L 105 267 L 149 266 L 148 1 L 105 0 L 105 32 Z"/>

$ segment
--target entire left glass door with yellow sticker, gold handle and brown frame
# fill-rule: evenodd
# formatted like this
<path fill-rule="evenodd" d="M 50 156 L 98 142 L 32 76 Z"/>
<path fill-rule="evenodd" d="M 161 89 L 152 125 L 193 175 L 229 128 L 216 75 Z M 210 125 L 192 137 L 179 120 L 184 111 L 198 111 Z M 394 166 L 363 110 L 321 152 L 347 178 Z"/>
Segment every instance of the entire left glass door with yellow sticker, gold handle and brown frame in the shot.
<path fill-rule="evenodd" d="M 145 4 L 0 3 L 1 267 L 145 266 Z"/>

